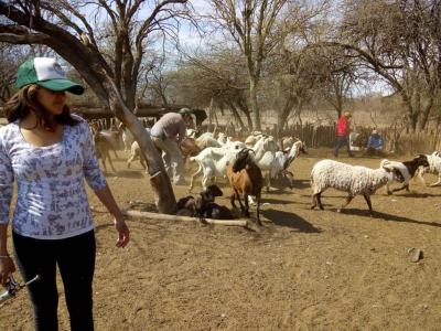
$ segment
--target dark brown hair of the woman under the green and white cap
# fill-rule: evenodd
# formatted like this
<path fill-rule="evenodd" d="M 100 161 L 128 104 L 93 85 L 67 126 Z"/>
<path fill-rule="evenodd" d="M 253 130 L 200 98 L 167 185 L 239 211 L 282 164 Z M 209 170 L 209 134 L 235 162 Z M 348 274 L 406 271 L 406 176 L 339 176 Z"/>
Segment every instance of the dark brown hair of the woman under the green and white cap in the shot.
<path fill-rule="evenodd" d="M 62 114 L 53 118 L 42 104 L 36 99 L 36 92 L 40 88 L 36 84 L 26 85 L 15 93 L 4 104 L 4 115 L 9 122 L 23 119 L 31 109 L 35 113 L 36 121 L 44 129 L 54 131 L 57 124 L 75 126 L 79 121 L 71 116 L 71 109 L 65 105 Z"/>

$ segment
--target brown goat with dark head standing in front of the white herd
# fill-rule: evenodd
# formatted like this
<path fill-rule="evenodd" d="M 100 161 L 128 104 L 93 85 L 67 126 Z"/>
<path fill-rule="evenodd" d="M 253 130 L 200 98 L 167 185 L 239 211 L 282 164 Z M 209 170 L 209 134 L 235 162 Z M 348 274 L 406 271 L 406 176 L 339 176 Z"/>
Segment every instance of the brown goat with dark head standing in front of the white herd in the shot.
<path fill-rule="evenodd" d="M 233 194 L 230 197 L 232 205 L 236 207 L 235 200 L 239 201 L 240 210 L 245 216 L 249 217 L 249 205 L 248 196 L 256 196 L 257 204 L 257 216 L 256 223 L 261 225 L 260 222 L 260 196 L 261 189 L 263 186 L 263 177 L 261 170 L 255 163 L 251 149 L 245 148 L 239 151 L 236 156 L 236 160 L 233 164 L 227 167 L 227 177 L 229 184 L 233 189 Z M 240 195 L 244 197 L 245 206 L 240 201 Z"/>

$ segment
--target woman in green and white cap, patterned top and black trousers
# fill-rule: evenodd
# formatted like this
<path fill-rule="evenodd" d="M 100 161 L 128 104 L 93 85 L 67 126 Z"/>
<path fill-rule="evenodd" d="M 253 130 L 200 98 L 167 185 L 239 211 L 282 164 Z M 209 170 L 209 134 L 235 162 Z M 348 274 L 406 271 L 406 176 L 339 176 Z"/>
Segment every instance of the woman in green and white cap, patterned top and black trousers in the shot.
<path fill-rule="evenodd" d="M 0 281 L 14 263 L 7 250 L 12 183 L 18 196 L 12 220 L 14 258 L 34 309 L 35 330 L 57 330 L 56 265 L 63 279 L 72 330 L 93 330 L 92 282 L 95 234 L 84 180 L 114 216 L 118 247 L 129 229 L 94 154 L 87 122 L 69 114 L 66 79 L 54 58 L 26 61 L 17 76 L 19 92 L 6 104 L 9 125 L 0 129 Z"/>

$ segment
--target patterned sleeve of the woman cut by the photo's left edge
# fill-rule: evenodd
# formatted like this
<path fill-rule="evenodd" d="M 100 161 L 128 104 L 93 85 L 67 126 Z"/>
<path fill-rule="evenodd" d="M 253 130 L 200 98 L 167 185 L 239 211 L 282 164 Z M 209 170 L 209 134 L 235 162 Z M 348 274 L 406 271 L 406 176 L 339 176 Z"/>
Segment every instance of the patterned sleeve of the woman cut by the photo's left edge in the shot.
<path fill-rule="evenodd" d="M 0 224 L 9 222 L 12 199 L 13 171 L 0 132 Z"/>

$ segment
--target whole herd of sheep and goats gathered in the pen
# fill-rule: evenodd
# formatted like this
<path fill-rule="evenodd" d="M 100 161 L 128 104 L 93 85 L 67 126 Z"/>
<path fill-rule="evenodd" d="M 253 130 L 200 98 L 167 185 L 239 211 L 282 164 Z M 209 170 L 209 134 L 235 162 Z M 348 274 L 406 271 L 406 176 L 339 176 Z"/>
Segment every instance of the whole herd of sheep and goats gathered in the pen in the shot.
<path fill-rule="evenodd" d="M 92 122 L 90 130 L 97 156 L 101 159 L 105 171 L 107 171 L 108 161 L 112 171 L 116 172 L 110 151 L 116 154 L 120 140 L 125 150 L 130 151 L 127 160 L 128 168 L 137 159 L 146 168 L 146 159 L 128 129 L 121 126 L 118 131 L 104 130 L 96 122 Z M 284 137 L 278 143 L 272 136 L 256 131 L 245 141 L 238 141 L 223 132 L 217 135 L 204 132 L 196 138 L 196 131 L 193 129 L 187 130 L 187 137 L 181 143 L 181 151 L 185 159 L 198 166 L 197 171 L 191 177 L 189 193 L 193 190 L 195 179 L 201 175 L 203 191 L 196 197 L 189 195 L 180 199 L 178 201 L 179 215 L 198 216 L 201 220 L 234 218 L 232 210 L 214 202 L 216 196 L 223 195 L 215 184 L 216 178 L 227 178 L 233 190 L 232 206 L 237 211 L 235 203 L 237 199 L 241 214 L 249 217 L 249 204 L 256 204 L 258 225 L 261 225 L 260 197 L 263 186 L 269 191 L 271 181 L 282 179 L 292 189 L 293 174 L 288 169 L 301 152 L 308 153 L 305 145 L 293 137 Z M 347 192 L 346 201 L 337 210 L 338 212 L 347 206 L 355 195 L 363 195 L 369 214 L 373 215 L 370 195 L 376 190 L 386 185 L 388 194 L 400 190 L 409 191 L 409 181 L 416 175 L 426 184 L 422 177 L 424 173 L 438 174 L 438 181 L 431 185 L 441 183 L 440 152 L 418 154 L 402 162 L 383 159 L 378 169 L 351 166 L 329 159 L 321 160 L 313 166 L 311 171 L 311 209 L 323 210 L 321 195 L 326 189 L 333 188 Z M 389 185 L 392 181 L 401 183 L 400 188 L 391 190 Z"/>

